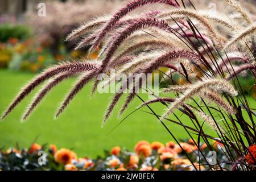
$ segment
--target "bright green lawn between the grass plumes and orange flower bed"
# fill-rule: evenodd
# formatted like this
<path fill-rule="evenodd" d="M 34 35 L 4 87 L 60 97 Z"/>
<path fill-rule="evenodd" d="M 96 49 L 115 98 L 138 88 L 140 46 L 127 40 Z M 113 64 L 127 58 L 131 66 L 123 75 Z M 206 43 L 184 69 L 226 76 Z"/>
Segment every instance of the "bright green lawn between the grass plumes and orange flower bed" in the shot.
<path fill-rule="evenodd" d="M 0 70 L 0 111 L 5 110 L 13 97 L 34 75 L 30 73 L 12 72 Z M 20 116 L 31 100 L 35 91 L 27 97 L 16 109 L 0 122 L 0 147 L 15 146 L 18 142 L 21 147 L 28 147 L 38 136 L 36 142 L 40 144 L 53 143 L 57 147 L 72 148 L 79 156 L 96 156 L 103 154 L 105 149 L 113 146 L 126 146 L 130 150 L 139 140 L 153 142 L 167 142 L 172 140 L 164 127 L 150 114 L 136 111 L 130 115 L 112 133 L 108 134 L 121 119 L 117 118 L 118 109 L 115 109 L 112 118 L 102 128 L 101 122 L 104 111 L 110 101 L 110 94 L 96 94 L 90 99 L 90 89 L 92 83 L 87 85 L 82 92 L 71 102 L 67 110 L 55 121 L 53 115 L 59 103 L 62 101 L 75 78 L 67 80 L 52 90 L 42 101 L 39 107 L 32 113 L 26 122 L 20 122 Z M 142 96 L 147 98 L 146 95 Z M 252 100 L 255 104 L 255 102 Z M 133 111 L 141 101 L 136 99 L 130 105 L 125 115 Z M 121 102 L 119 103 L 121 106 Z M 161 104 L 152 105 L 158 114 L 163 113 Z M 149 111 L 146 107 L 143 110 Z M 179 113 L 178 113 L 179 114 Z M 184 123 L 189 123 L 189 119 L 180 118 Z M 186 138 L 183 128 L 171 123 L 167 123 L 172 133 L 177 138 Z"/>

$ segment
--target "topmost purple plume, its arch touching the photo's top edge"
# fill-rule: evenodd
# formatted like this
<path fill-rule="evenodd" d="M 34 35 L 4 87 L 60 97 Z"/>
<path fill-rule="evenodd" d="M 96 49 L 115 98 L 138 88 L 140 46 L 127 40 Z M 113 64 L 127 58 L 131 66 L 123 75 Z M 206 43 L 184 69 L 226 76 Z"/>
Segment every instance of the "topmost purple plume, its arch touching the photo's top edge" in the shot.
<path fill-rule="evenodd" d="M 152 4 L 152 3 L 164 3 L 170 6 L 179 7 L 176 2 L 172 0 L 135 0 L 127 4 L 126 7 L 123 7 L 121 10 L 119 10 L 117 13 L 113 15 L 113 18 L 109 20 L 108 23 L 106 23 L 105 27 L 102 28 L 102 31 L 100 34 L 97 35 L 97 38 L 95 39 L 92 49 L 98 47 L 102 40 L 105 38 L 106 34 L 115 26 L 115 24 L 121 19 L 123 16 L 127 15 L 131 11 L 137 9 L 138 7 Z"/>

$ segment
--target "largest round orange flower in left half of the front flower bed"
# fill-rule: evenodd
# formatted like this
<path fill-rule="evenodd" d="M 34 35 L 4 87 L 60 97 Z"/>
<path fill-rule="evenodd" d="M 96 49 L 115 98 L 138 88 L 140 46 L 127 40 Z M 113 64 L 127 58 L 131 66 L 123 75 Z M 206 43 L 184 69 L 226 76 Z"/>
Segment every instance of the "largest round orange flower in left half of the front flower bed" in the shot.
<path fill-rule="evenodd" d="M 76 159 L 75 152 L 68 150 L 67 148 L 61 148 L 54 155 L 55 161 L 62 164 L 70 164 L 72 159 Z"/>

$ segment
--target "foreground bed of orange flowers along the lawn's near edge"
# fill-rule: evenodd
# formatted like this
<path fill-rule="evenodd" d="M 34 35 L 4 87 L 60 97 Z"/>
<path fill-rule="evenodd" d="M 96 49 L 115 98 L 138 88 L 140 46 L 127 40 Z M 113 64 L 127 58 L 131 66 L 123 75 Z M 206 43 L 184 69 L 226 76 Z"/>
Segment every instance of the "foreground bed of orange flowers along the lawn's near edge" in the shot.
<path fill-rule="evenodd" d="M 182 147 L 182 149 L 181 149 Z M 216 152 L 216 160 L 221 168 L 232 169 L 234 165 L 226 164 L 225 148 L 221 143 L 214 142 L 210 147 Z M 200 150 L 199 150 L 200 148 Z M 255 164 L 256 145 L 249 147 L 245 160 Z M 28 149 L 10 148 L 0 152 L 1 170 L 110 170 L 110 171 L 158 171 L 158 170 L 207 170 L 209 160 L 203 159 L 209 153 L 207 144 L 189 139 L 176 144 L 167 142 L 138 142 L 134 151 L 115 146 L 105 151 L 104 157 L 78 158 L 76 153 L 67 148 L 57 149 L 55 145 L 33 143 Z M 46 160 L 43 163 L 43 158 Z M 199 162 L 200 159 L 200 162 Z M 209 163 L 208 163 L 208 162 Z M 213 168 L 217 170 L 218 168 Z"/>

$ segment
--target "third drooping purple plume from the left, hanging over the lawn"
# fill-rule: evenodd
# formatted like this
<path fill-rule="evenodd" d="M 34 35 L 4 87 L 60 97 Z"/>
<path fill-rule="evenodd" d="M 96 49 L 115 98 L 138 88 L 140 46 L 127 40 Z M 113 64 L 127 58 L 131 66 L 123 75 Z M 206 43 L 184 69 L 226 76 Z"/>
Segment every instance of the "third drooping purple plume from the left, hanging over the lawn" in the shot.
<path fill-rule="evenodd" d="M 75 84 L 72 88 L 71 92 L 65 97 L 64 101 L 61 103 L 57 113 L 55 114 L 55 118 L 59 117 L 59 115 L 63 112 L 63 110 L 68 106 L 69 102 L 75 97 L 75 95 L 96 75 L 97 71 L 90 71 L 85 73 L 80 80 Z"/>

